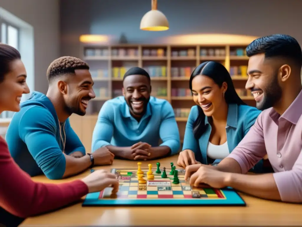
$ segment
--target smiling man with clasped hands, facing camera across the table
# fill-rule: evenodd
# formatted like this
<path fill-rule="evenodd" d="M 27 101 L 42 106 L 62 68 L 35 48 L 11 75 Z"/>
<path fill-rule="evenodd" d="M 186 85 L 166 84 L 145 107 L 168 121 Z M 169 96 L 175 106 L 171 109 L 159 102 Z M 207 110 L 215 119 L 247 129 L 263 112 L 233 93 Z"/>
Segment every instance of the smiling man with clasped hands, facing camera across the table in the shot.
<path fill-rule="evenodd" d="M 92 151 L 106 146 L 128 160 L 149 160 L 176 154 L 178 126 L 171 104 L 150 96 L 149 74 L 140 67 L 123 78 L 123 95 L 102 106 L 92 135 Z M 160 139 L 162 143 L 159 144 Z"/>

